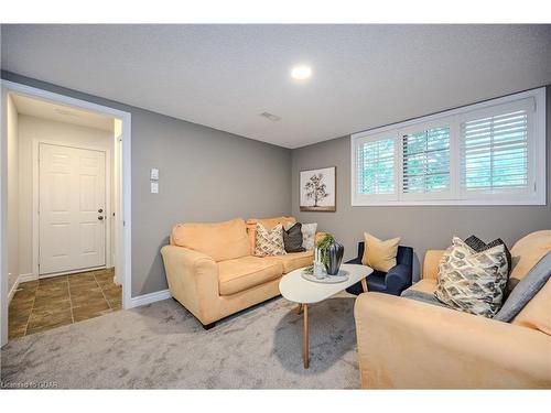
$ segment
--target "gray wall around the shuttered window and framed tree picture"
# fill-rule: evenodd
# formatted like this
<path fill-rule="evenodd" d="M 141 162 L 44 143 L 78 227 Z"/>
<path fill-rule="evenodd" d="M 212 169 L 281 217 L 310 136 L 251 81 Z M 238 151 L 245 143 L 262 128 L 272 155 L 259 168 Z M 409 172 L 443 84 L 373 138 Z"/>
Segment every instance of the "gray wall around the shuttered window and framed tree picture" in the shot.
<path fill-rule="evenodd" d="M 500 237 L 509 247 L 520 237 L 551 229 L 551 87 L 547 89 L 547 185 L 545 206 L 350 206 L 350 137 L 334 139 L 292 152 L 292 214 L 302 222 L 335 235 L 345 246 L 345 258 L 356 257 L 364 231 L 388 239 L 402 237 L 414 248 L 418 260 L 428 249 L 443 249 L 452 236 L 477 235 L 487 241 Z M 336 213 L 301 213 L 299 173 L 324 166 L 337 167 Z M 419 262 L 417 263 L 419 264 Z M 415 270 L 419 267 L 415 265 Z"/>

